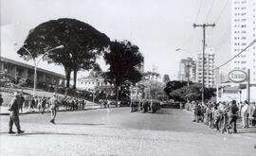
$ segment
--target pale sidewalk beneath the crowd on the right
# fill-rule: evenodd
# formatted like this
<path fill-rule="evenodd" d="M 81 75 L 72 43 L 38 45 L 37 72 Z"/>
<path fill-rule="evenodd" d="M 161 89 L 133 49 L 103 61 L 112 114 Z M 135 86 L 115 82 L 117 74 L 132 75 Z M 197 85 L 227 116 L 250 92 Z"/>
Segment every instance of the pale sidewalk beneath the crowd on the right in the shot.
<path fill-rule="evenodd" d="M 186 113 L 190 113 L 193 118 L 193 113 L 191 111 L 187 111 L 185 109 L 183 109 L 183 111 Z M 199 124 L 203 124 L 203 123 L 199 123 Z M 248 138 L 256 139 L 256 127 L 249 127 L 248 129 L 244 129 L 241 118 L 239 118 L 237 120 L 236 124 L 237 124 L 237 126 L 236 126 L 237 133 L 236 134 L 241 135 L 241 136 L 246 136 Z"/>

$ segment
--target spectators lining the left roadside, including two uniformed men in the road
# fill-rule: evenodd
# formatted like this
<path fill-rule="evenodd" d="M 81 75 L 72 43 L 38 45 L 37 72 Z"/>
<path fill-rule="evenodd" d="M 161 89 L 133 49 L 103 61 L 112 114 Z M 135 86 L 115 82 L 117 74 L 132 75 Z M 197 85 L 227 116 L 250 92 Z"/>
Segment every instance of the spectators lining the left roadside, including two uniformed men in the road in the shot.
<path fill-rule="evenodd" d="M 1 105 L 3 103 L 3 98 L 0 96 Z M 17 128 L 17 133 L 23 133 L 24 130 L 21 130 L 19 112 L 23 113 L 24 109 L 27 112 L 38 112 L 45 113 L 49 111 L 51 113 L 50 121 L 55 124 L 55 117 L 57 111 L 60 107 L 63 107 L 65 110 L 75 111 L 83 110 L 86 105 L 86 102 L 82 98 L 76 98 L 71 96 L 58 96 L 55 93 L 51 97 L 46 96 L 32 96 L 32 95 L 23 95 L 17 92 L 14 92 L 13 97 L 11 98 L 8 108 L 9 108 L 9 133 L 15 133 L 12 130 L 13 124 Z"/>

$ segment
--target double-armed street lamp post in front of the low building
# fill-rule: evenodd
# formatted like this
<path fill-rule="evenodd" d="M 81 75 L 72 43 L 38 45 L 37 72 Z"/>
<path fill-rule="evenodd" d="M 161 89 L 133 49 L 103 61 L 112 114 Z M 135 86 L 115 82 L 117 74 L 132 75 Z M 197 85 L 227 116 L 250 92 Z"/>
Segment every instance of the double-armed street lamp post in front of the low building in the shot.
<path fill-rule="evenodd" d="M 36 61 L 36 59 L 32 56 L 32 54 L 27 50 L 26 47 L 22 46 L 21 48 L 24 48 L 27 52 L 27 54 L 32 58 L 32 60 L 34 61 L 34 87 L 33 87 L 33 96 L 35 96 L 35 90 L 36 90 L 36 81 L 37 81 L 37 75 L 36 75 L 36 72 L 37 72 L 37 66 L 39 64 L 39 62 L 46 56 L 49 54 L 49 52 L 53 51 L 53 50 L 56 50 L 56 49 L 62 49 L 64 48 L 64 45 L 59 45 L 59 46 L 56 46 L 54 48 L 51 48 L 49 49 L 48 51 L 46 51 L 46 53 L 41 56 L 41 58 Z"/>

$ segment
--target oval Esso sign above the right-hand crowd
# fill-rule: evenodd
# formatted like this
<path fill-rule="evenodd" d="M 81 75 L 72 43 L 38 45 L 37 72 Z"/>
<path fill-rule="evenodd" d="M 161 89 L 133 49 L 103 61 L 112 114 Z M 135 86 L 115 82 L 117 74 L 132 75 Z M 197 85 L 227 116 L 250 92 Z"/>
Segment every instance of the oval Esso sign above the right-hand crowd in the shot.
<path fill-rule="evenodd" d="M 243 70 L 232 70 L 229 72 L 228 78 L 231 82 L 242 83 L 247 80 L 247 73 Z"/>

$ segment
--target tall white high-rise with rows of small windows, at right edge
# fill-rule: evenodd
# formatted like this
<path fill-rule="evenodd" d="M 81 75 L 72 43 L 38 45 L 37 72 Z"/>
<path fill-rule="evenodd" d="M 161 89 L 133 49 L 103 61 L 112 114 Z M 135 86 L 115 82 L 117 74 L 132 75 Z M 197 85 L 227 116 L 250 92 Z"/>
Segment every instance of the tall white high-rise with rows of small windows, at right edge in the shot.
<path fill-rule="evenodd" d="M 231 56 L 237 55 L 256 39 L 256 0 L 232 0 Z M 250 69 L 250 81 L 256 84 L 256 44 L 231 61 L 231 69 Z"/>

